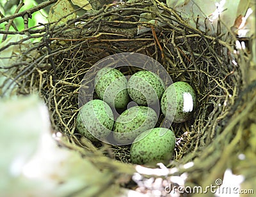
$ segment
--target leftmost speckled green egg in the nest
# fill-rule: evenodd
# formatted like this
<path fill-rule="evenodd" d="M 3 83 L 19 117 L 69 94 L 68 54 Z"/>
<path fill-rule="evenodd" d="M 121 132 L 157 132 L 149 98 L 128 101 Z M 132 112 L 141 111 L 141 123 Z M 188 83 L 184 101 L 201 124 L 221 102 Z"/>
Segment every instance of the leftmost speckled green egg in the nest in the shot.
<path fill-rule="evenodd" d="M 77 131 L 92 142 L 105 141 L 111 133 L 113 125 L 113 112 L 110 106 L 100 99 L 89 101 L 83 105 L 77 115 Z"/>

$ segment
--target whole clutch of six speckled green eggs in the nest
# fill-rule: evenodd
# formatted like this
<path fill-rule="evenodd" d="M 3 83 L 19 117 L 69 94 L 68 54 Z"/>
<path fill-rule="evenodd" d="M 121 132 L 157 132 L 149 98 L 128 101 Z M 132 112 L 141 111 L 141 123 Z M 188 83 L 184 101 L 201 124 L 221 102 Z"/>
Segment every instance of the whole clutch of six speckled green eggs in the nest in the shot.
<path fill-rule="evenodd" d="M 99 99 L 86 103 L 77 115 L 77 131 L 92 142 L 113 132 L 118 145 L 132 143 L 131 161 L 138 164 L 170 159 L 175 148 L 174 132 L 154 128 L 158 115 L 149 106 L 159 102 L 166 119 L 177 123 L 188 120 L 196 106 L 191 85 L 175 82 L 165 89 L 151 71 L 138 71 L 127 81 L 117 69 L 102 68 L 95 77 L 95 92 Z M 137 105 L 125 110 L 129 101 Z M 115 108 L 124 112 L 114 121 Z"/>

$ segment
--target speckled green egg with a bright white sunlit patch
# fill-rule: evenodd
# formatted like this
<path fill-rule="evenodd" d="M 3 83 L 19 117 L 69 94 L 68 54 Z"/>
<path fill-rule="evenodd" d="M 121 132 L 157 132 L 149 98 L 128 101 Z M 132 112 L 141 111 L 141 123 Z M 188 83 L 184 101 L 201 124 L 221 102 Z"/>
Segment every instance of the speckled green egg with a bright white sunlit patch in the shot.
<path fill-rule="evenodd" d="M 175 82 L 164 92 L 161 110 L 166 119 L 184 122 L 189 119 L 196 107 L 196 93 L 186 82 Z"/>

